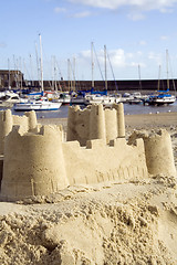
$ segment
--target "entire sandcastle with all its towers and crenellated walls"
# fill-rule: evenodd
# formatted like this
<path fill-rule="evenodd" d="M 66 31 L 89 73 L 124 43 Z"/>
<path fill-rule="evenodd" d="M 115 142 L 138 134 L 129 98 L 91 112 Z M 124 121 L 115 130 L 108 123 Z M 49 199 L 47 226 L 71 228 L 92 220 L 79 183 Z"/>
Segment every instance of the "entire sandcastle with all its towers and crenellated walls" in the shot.
<path fill-rule="evenodd" d="M 176 176 L 170 136 L 125 139 L 123 104 L 113 109 L 70 107 L 66 141 L 61 126 L 42 126 L 34 112 L 0 112 L 1 200 L 49 195 L 73 184 Z M 167 162 L 164 160 L 167 157 Z"/>

